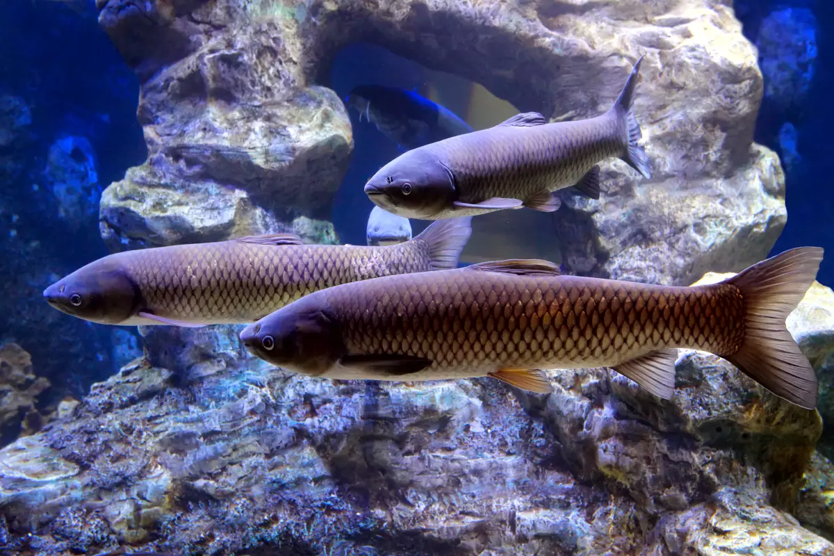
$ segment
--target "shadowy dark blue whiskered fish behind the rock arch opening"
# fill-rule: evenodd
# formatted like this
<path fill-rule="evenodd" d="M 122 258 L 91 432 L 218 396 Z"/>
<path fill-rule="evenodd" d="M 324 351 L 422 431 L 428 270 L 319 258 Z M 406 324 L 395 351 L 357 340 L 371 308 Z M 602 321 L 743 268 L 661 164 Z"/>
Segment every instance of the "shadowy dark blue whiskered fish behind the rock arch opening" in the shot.
<path fill-rule="evenodd" d="M 415 148 L 470 133 L 472 128 L 448 108 L 413 91 L 381 85 L 360 85 L 350 92 L 347 103 L 374 123 L 402 148 Z"/>

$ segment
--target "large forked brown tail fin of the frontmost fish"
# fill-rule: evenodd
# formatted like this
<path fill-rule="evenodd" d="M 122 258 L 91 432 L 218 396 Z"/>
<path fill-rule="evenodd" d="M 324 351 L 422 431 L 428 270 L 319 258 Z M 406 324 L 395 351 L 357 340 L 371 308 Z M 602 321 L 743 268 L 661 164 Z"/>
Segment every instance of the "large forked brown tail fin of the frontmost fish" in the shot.
<path fill-rule="evenodd" d="M 780 398 L 806 409 L 816 407 L 816 374 L 785 319 L 816 279 L 822 251 L 790 249 L 726 281 L 739 288 L 746 313 L 741 347 L 727 360 Z"/>

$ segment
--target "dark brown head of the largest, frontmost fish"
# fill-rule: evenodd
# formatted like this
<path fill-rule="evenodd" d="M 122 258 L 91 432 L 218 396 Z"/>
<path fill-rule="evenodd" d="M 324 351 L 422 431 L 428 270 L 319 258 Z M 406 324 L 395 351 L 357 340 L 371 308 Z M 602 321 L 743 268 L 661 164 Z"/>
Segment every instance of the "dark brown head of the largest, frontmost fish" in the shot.
<path fill-rule="evenodd" d="M 249 353 L 295 373 L 319 376 L 339 361 L 344 344 L 332 313 L 315 293 L 249 324 L 240 341 Z"/>

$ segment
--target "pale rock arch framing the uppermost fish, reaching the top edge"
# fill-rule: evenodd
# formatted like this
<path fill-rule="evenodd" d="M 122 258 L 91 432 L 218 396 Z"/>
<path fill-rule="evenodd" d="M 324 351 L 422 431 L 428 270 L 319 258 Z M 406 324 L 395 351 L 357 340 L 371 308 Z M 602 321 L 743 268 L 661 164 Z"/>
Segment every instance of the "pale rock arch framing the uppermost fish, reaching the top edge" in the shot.
<path fill-rule="evenodd" d="M 349 123 L 339 100 L 315 85 L 326 84 L 339 48 L 365 40 L 470 78 L 522 111 L 560 119 L 609 108 L 631 64 L 646 54 L 635 111 L 653 178 L 637 178 L 619 161 L 605 163 L 603 198 L 571 199 L 554 215 L 562 263 L 572 273 L 680 284 L 708 269 L 737 272 L 768 253 L 786 221 L 778 159 L 751 143 L 763 90 L 756 49 L 726 3 L 99 5 L 103 28 L 145 79 L 139 114 L 152 154 L 143 190 L 155 191 L 154 184 L 168 183 L 168 174 L 176 173 L 211 183 L 174 184 L 176 195 L 220 195 L 218 184 L 224 183 L 233 187 L 224 193 L 229 201 L 245 197 L 258 207 L 266 206 L 257 198 L 266 192 L 284 208 L 297 203 L 283 197 L 284 183 L 302 192 L 314 188 L 322 197 L 332 193 L 351 147 Z M 262 106 L 266 99 L 283 108 Z M 268 115 L 272 110 L 278 111 L 274 117 Z M 246 132 L 229 132 L 231 122 Z M 299 122 L 311 124 L 309 139 L 300 138 Z M 280 139 L 266 139 L 275 136 Z M 275 163 L 276 152 L 297 155 Z M 296 164 L 298 159 L 306 162 Z M 303 178 L 300 167 L 306 168 Z M 243 178 L 235 178 L 238 173 Z M 195 193 L 190 202 L 205 202 L 208 194 Z M 110 207 L 118 209 L 118 198 L 130 196 L 129 188 L 121 196 L 105 195 L 105 223 L 118 221 L 108 216 Z M 328 203 L 318 200 L 322 208 Z M 223 203 L 229 205 L 234 203 Z M 227 208 L 224 228 L 248 222 L 245 212 L 234 217 Z M 153 219 L 152 213 L 142 208 L 136 214 Z M 191 224 L 183 228 L 214 237 L 216 223 L 203 227 L 197 215 L 184 219 Z M 620 224 L 623 219 L 628 224 Z M 113 224 L 120 237 L 129 237 L 131 229 Z"/>

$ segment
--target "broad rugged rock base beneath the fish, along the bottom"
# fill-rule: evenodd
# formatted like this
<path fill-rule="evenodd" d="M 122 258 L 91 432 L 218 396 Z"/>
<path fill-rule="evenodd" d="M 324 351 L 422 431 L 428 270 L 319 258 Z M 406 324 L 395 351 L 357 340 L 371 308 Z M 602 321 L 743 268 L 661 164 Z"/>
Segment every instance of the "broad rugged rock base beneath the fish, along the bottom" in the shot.
<path fill-rule="evenodd" d="M 789 320 L 803 348 L 820 288 Z M 137 360 L 0 450 L 0 534 L 44 556 L 834 553 L 819 413 L 707 353 L 676 367 L 663 401 L 601 368 L 544 396 Z"/>

